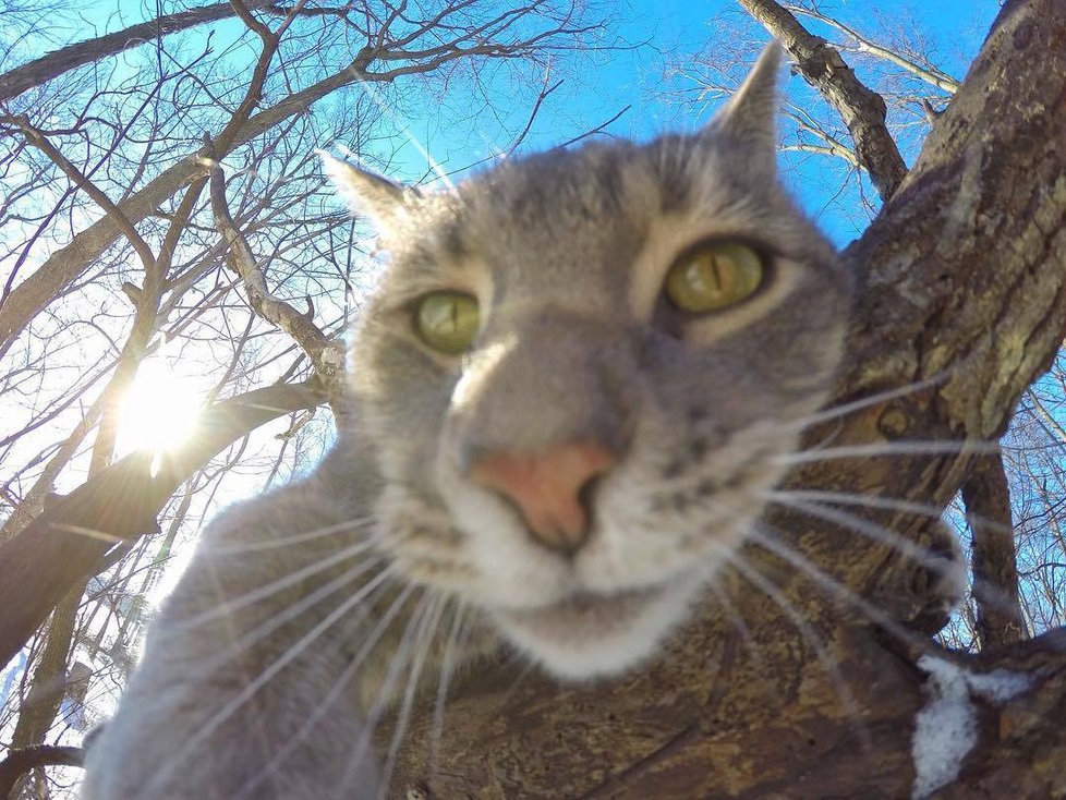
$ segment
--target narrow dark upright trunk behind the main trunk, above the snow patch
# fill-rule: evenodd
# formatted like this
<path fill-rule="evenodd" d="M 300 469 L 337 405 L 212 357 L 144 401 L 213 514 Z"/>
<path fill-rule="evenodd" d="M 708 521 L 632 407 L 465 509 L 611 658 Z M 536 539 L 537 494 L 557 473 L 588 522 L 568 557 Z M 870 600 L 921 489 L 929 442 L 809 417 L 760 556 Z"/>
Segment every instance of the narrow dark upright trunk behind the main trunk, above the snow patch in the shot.
<path fill-rule="evenodd" d="M 973 599 L 981 646 L 1020 642 L 1026 626 L 1018 601 L 1010 489 L 1002 458 L 976 460 L 962 484 L 962 501 L 973 532 Z"/>

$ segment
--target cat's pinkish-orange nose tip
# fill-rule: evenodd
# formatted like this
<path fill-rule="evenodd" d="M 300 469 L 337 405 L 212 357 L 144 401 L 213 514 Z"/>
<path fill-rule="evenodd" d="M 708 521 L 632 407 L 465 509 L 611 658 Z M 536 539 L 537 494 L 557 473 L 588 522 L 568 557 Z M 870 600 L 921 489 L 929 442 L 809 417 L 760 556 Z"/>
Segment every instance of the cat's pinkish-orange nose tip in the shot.
<path fill-rule="evenodd" d="M 603 445 L 571 443 L 537 453 L 486 453 L 470 477 L 518 506 L 540 544 L 572 556 L 589 538 L 587 489 L 615 461 Z"/>

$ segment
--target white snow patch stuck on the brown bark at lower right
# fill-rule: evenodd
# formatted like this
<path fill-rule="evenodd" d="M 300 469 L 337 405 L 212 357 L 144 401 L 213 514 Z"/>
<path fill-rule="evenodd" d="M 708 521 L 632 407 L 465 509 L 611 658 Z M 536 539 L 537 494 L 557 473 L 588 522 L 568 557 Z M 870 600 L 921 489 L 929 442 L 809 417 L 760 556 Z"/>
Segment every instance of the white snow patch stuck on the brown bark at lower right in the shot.
<path fill-rule="evenodd" d="M 977 707 L 971 698 L 1003 703 L 1032 683 L 1027 675 L 1006 669 L 970 672 L 933 655 L 923 655 L 918 666 L 929 674 L 929 703 L 914 718 L 911 800 L 922 800 L 958 777 L 966 754 L 977 743 Z"/>

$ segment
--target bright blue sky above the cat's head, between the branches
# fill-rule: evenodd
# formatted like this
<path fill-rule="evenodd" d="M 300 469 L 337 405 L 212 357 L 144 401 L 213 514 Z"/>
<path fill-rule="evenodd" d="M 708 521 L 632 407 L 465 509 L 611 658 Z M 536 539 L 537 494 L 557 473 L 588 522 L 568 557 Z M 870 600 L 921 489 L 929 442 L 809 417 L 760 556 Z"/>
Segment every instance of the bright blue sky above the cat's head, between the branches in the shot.
<path fill-rule="evenodd" d="M 163 8 L 173 10 L 169 3 Z M 716 104 L 694 97 L 696 87 L 692 75 L 699 72 L 693 69 L 694 57 L 701 51 L 713 52 L 713 48 L 732 49 L 739 41 L 738 25 L 751 25 L 734 0 L 616 0 L 601 8 L 613 16 L 604 44 L 616 45 L 617 49 L 579 57 L 576 65 L 559 63 L 557 74 L 565 78 L 564 85 L 545 101 L 519 151 L 565 142 L 602 124 L 627 106 L 629 110 L 607 129 L 610 134 L 646 140 L 667 130 L 699 126 L 712 116 Z M 962 77 L 1000 4 L 995 0 L 828 0 L 821 2 L 820 8 L 879 41 L 919 43 L 938 68 Z M 57 25 L 54 40 L 75 40 L 93 28 L 98 33 L 120 29 L 150 17 L 155 11 L 155 2 L 143 0 L 92 2 L 84 8 L 76 28 L 63 29 Z M 837 33 L 816 22 L 804 20 L 804 23 L 829 40 L 840 39 Z M 216 27 L 216 41 L 227 31 L 241 29 L 237 21 Z M 752 28 L 760 40 L 766 40 L 762 28 Z M 204 28 L 194 34 L 202 35 Z M 758 47 L 753 43 L 741 51 L 741 58 L 750 60 Z M 876 83 L 880 62 L 846 58 L 860 78 Z M 738 63 L 730 78 L 739 80 L 741 75 L 742 64 Z M 538 81 L 541 75 L 530 74 L 526 80 Z M 393 177 L 411 180 L 425 175 L 429 169 L 426 153 L 446 171 L 451 171 L 506 149 L 529 116 L 529 105 L 512 99 L 512 81 L 513 75 L 502 69 L 489 77 L 486 93 L 496 110 L 493 114 L 481 114 L 476 122 L 470 119 L 461 94 L 451 93 L 441 105 L 409 104 L 393 122 L 416 143 L 402 148 L 391 160 Z M 783 85 L 801 108 L 819 106 L 819 99 L 801 77 L 790 76 Z M 911 106 L 906 113 L 908 119 L 917 120 L 914 104 Z M 917 155 L 917 143 L 925 131 L 920 122 L 911 122 L 899 128 L 900 148 L 908 162 Z M 819 218 L 837 244 L 843 245 L 862 230 L 875 210 L 876 194 L 868 182 L 861 186 L 856 183 L 850 193 L 839 194 L 839 165 L 831 161 L 822 156 L 783 154 L 784 173 L 792 193 Z M 864 213 L 859 211 L 860 189 L 869 203 Z"/>

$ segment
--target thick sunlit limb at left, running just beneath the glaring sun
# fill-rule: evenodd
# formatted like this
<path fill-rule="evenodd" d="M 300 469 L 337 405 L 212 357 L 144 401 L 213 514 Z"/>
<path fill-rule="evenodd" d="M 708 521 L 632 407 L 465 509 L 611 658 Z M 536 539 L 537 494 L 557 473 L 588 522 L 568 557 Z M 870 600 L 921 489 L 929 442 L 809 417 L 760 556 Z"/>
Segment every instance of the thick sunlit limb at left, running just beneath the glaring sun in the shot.
<path fill-rule="evenodd" d="M 126 456 L 0 546 L 0 665 L 47 619 L 56 603 L 119 542 L 156 530 L 156 517 L 190 475 L 261 425 L 325 400 L 317 381 L 269 386 L 206 410 L 199 434 L 171 453 L 155 474 L 154 454 Z"/>

